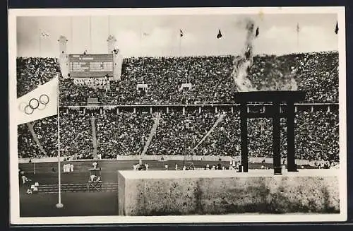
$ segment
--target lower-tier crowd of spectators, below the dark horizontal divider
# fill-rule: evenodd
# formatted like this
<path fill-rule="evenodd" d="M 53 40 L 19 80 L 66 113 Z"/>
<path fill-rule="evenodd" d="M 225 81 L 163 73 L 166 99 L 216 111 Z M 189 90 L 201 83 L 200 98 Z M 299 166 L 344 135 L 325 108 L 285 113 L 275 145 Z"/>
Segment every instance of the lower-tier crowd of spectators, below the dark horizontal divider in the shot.
<path fill-rule="evenodd" d="M 147 155 L 240 155 L 239 112 L 227 112 L 205 140 L 220 114 L 204 111 L 162 113 Z M 92 121 L 97 136 L 97 153 L 102 158 L 116 158 L 116 155 L 140 155 L 152 131 L 156 114 L 103 110 L 86 114 L 75 110 L 62 113 L 60 117 L 61 151 L 64 155 L 76 155 L 78 159 L 92 158 Z M 40 126 L 36 126 L 40 124 Z M 49 155 L 55 155 L 55 119 L 35 122 L 35 132 Z M 38 129 L 36 128 L 38 127 Z M 287 155 L 285 121 L 282 120 L 282 158 Z M 339 132 L 337 112 L 297 112 L 295 119 L 296 158 L 302 160 L 335 160 L 339 158 Z M 249 156 L 272 157 L 271 119 L 248 120 Z M 30 131 L 19 126 L 18 152 L 20 157 L 42 155 Z M 49 137 L 45 139 L 44 137 Z M 57 143 L 57 141 L 56 141 Z"/>

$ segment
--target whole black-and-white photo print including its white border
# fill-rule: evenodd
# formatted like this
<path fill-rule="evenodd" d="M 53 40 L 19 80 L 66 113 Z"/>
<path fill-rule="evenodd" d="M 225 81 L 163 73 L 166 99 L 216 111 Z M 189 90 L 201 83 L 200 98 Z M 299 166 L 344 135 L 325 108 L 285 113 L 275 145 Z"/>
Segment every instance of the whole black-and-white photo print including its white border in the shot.
<path fill-rule="evenodd" d="M 347 220 L 344 7 L 8 16 L 11 223 Z"/>

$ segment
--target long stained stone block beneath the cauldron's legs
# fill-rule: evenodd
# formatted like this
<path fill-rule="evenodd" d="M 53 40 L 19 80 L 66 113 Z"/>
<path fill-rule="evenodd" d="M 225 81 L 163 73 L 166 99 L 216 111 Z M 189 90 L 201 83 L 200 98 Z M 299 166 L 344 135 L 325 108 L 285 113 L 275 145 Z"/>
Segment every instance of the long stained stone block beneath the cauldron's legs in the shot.
<path fill-rule="evenodd" d="M 340 213 L 337 170 L 119 171 L 119 215 Z"/>

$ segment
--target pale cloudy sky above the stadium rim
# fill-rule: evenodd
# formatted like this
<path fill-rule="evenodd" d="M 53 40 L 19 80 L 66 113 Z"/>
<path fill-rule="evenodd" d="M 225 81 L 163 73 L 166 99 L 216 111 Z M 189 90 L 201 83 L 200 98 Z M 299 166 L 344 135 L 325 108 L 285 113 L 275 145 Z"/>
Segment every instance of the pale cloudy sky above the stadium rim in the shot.
<path fill-rule="evenodd" d="M 58 57 L 60 35 L 68 40 L 68 54 L 85 50 L 107 54 L 108 35 L 116 37 L 116 48 L 123 57 L 239 54 L 246 38 L 246 20 L 253 20 L 259 28 L 253 41 L 255 54 L 338 49 L 335 13 L 18 16 L 17 55 Z M 216 38 L 218 30 L 223 35 L 220 39 Z M 41 37 L 42 32 L 49 37 Z"/>

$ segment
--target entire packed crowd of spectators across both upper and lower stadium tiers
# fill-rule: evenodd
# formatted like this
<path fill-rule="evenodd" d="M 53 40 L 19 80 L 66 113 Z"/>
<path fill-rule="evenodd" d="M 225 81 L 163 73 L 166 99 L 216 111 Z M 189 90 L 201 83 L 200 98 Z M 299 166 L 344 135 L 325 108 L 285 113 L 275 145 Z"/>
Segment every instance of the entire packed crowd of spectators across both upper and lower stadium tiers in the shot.
<path fill-rule="evenodd" d="M 236 86 L 231 77 L 232 56 L 226 57 L 157 57 L 124 59 L 121 81 L 98 81 L 77 84 L 61 79 L 60 104 L 86 105 L 97 97 L 102 105 L 160 105 L 232 103 Z M 56 59 L 17 59 L 18 97 L 60 73 Z M 306 102 L 338 102 L 338 53 L 321 52 L 284 56 L 256 56 L 248 70 L 257 90 L 280 90 L 285 78 L 294 78 L 297 90 L 307 92 Z M 136 90 L 136 84 L 148 84 L 147 91 Z M 191 90 L 180 90 L 181 83 L 192 83 Z M 99 86 L 97 86 L 99 85 Z M 97 153 L 102 158 L 116 155 L 140 155 L 154 124 L 156 114 L 120 112 L 116 109 L 90 109 L 85 114 L 67 109 L 60 114 L 61 150 L 64 155 L 92 158 L 92 128 L 97 138 Z M 227 112 L 214 131 L 203 136 L 222 112 L 203 109 L 161 112 L 161 120 L 147 155 L 239 155 L 239 112 Z M 337 110 L 299 110 L 295 114 L 296 158 L 305 160 L 339 160 Z M 282 119 L 282 134 L 285 120 Z M 272 124 L 270 119 L 249 119 L 249 155 L 271 157 Z M 45 155 L 57 153 L 56 117 L 32 122 Z M 197 146 L 197 148 L 196 148 Z M 286 137 L 282 136 L 285 157 Z M 193 150 L 193 148 L 195 148 Z M 28 124 L 18 126 L 18 156 L 44 155 L 33 138 Z"/>

